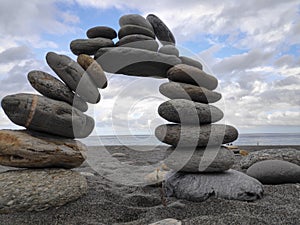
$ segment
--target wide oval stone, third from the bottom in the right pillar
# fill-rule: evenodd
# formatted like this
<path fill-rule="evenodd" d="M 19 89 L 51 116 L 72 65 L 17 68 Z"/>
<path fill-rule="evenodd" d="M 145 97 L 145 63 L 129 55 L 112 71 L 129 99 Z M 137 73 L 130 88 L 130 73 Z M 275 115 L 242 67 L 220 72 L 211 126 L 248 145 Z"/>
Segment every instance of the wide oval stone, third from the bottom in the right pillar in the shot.
<path fill-rule="evenodd" d="M 205 147 L 233 142 L 238 138 L 238 131 L 222 124 L 163 124 L 155 129 L 155 136 L 173 147 Z"/>

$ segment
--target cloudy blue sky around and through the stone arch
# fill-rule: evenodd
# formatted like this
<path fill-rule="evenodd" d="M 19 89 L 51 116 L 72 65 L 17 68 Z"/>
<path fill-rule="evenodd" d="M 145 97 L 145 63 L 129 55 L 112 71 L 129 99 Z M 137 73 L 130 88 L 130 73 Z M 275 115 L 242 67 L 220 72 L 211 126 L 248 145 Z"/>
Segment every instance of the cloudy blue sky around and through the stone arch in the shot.
<path fill-rule="evenodd" d="M 181 55 L 219 80 L 220 123 L 240 133 L 300 132 L 299 0 L 0 0 L 0 98 L 36 93 L 31 70 L 55 75 L 49 51 L 72 55 L 69 44 L 94 26 L 119 29 L 124 14 L 159 16 L 175 35 Z M 93 135 L 151 134 L 166 123 L 157 107 L 166 79 L 107 74 L 102 99 L 87 114 Z M 0 129 L 20 129 L 0 111 Z"/>

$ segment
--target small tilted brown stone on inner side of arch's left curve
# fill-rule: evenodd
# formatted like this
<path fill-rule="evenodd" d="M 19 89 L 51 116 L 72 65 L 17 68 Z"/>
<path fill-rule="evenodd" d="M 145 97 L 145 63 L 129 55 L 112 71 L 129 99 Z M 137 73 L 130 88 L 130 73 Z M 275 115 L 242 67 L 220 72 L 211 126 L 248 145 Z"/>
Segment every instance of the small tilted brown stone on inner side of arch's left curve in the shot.
<path fill-rule="evenodd" d="M 107 79 L 102 67 L 92 57 L 81 54 L 77 58 L 77 62 L 86 70 L 87 74 L 94 81 L 98 88 L 107 87 Z"/>

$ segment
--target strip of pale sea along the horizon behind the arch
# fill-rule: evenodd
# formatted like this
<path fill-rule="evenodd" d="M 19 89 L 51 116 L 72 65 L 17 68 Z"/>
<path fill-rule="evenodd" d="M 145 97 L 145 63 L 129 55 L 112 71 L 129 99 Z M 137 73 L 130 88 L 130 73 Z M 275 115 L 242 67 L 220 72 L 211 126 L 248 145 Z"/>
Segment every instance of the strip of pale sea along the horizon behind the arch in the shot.
<path fill-rule="evenodd" d="M 112 145 L 163 145 L 155 136 L 149 135 L 108 135 L 90 136 L 80 139 L 87 146 Z M 261 133 L 240 134 L 233 145 L 300 145 L 300 133 Z"/>

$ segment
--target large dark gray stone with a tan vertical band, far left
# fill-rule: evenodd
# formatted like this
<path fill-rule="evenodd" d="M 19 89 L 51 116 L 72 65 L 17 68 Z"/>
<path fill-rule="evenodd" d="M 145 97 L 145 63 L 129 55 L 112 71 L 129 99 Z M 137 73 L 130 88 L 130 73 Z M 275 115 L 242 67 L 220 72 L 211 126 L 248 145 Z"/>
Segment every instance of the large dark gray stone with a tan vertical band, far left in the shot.
<path fill-rule="evenodd" d="M 93 118 L 80 110 L 44 96 L 8 95 L 2 99 L 1 106 L 13 123 L 62 137 L 84 138 L 95 126 Z"/>

